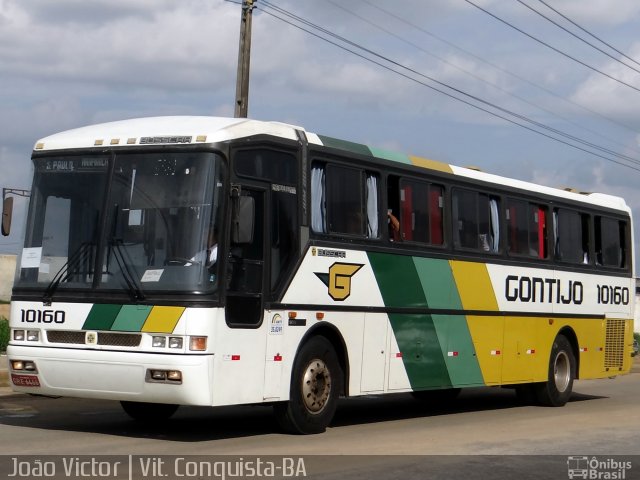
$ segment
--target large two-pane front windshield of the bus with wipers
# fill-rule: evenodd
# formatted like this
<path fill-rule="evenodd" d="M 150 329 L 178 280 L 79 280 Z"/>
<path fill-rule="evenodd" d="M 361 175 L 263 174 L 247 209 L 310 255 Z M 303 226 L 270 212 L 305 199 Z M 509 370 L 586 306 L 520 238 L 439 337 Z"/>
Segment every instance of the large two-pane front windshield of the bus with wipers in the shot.
<path fill-rule="evenodd" d="M 212 292 L 219 160 L 184 151 L 36 158 L 16 287 L 45 297 L 125 291 L 134 300 Z"/>

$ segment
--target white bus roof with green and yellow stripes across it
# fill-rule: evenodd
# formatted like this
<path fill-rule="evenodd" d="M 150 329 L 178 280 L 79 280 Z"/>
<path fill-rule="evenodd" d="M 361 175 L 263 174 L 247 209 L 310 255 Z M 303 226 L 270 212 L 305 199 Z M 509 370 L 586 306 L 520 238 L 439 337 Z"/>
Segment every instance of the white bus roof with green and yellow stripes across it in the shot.
<path fill-rule="evenodd" d="M 363 144 L 339 140 L 306 132 L 303 128 L 279 122 L 265 122 L 246 118 L 205 116 L 148 117 L 108 122 L 67 130 L 42 138 L 36 142 L 35 151 L 52 151 L 100 146 L 121 147 L 133 145 L 208 144 L 244 138 L 253 135 L 272 135 L 297 140 L 296 130 L 305 132 L 310 144 L 337 148 L 365 156 L 413 165 L 430 170 L 504 185 L 526 191 L 591 203 L 630 213 L 624 199 L 601 193 L 576 193 L 545 187 L 530 182 L 493 175 L 473 168 L 458 167 L 427 158 L 406 155 Z"/>

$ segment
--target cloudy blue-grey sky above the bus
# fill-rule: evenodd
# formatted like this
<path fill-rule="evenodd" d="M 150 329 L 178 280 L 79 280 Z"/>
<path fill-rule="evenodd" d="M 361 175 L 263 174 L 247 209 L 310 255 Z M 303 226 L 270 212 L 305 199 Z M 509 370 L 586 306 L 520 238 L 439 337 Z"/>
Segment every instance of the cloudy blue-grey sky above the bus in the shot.
<path fill-rule="evenodd" d="M 0 187 L 30 188 L 33 145 L 55 132 L 233 116 L 240 12 L 224 0 L 0 0 Z M 640 219 L 638 31 L 637 0 L 257 0 L 249 117 L 620 195 Z M 0 254 L 20 251 L 26 207 L 15 199 Z"/>

